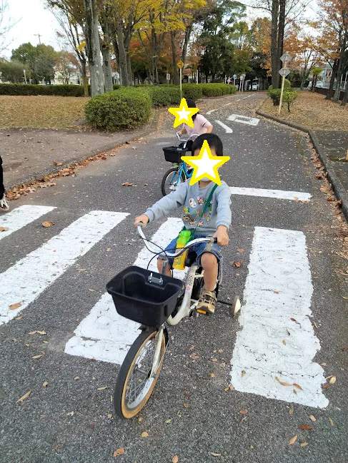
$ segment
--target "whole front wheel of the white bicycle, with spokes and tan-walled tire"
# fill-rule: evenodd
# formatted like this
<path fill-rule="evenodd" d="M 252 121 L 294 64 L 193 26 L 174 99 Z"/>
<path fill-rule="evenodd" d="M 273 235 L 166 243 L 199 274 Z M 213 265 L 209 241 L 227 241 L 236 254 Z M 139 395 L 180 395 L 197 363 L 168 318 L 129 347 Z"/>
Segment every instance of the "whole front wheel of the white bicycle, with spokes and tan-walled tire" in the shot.
<path fill-rule="evenodd" d="M 145 330 L 136 338 L 119 370 L 114 390 L 114 409 L 119 417 L 132 418 L 149 400 L 161 371 L 166 342 L 162 336 L 160 362 L 150 377 L 156 348 L 157 330 Z"/>

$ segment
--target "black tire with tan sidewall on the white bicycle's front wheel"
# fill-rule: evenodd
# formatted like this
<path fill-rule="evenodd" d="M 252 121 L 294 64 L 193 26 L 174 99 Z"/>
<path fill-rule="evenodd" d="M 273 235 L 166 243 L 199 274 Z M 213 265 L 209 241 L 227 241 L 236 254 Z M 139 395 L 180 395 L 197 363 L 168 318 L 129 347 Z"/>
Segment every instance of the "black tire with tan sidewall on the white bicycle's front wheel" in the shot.
<path fill-rule="evenodd" d="M 149 384 L 149 389 L 146 391 L 144 397 L 139 402 L 139 404 L 134 405 L 134 407 L 129 407 L 127 405 L 126 392 L 127 392 L 129 377 L 131 375 L 133 367 L 136 363 L 136 360 L 141 355 L 141 351 L 144 349 L 144 346 L 147 344 L 147 342 L 151 341 L 156 336 L 157 332 L 158 332 L 157 328 L 152 328 L 151 330 L 142 331 L 140 335 L 136 338 L 136 340 L 133 342 L 133 344 L 131 345 L 131 348 L 129 349 L 126 355 L 124 362 L 121 365 L 121 368 L 119 370 L 119 375 L 117 376 L 115 389 L 114 389 L 114 410 L 115 410 L 115 413 L 121 418 L 129 419 L 129 418 L 134 417 L 136 414 L 138 414 L 141 411 L 141 409 L 144 407 L 146 402 L 149 400 L 149 397 L 152 391 L 154 390 L 157 379 L 159 377 L 159 372 L 161 371 L 163 357 L 164 357 L 164 350 L 166 347 L 164 336 L 162 337 L 162 345 L 161 345 L 161 352 L 160 352 L 161 362 L 159 363 L 159 367 L 156 371 L 156 376 L 153 378 L 151 384 Z M 151 368 L 149 372 L 151 372 Z M 151 381 L 149 377 L 147 378 L 146 382 L 148 381 Z M 140 396 L 141 394 L 144 394 L 144 393 L 141 391 Z"/>

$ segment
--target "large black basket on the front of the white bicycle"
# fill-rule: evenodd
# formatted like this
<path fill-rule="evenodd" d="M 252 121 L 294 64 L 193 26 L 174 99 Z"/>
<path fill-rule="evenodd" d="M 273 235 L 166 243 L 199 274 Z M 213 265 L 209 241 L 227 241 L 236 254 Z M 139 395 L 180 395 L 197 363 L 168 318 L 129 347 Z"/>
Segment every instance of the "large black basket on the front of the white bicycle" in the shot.
<path fill-rule="evenodd" d="M 125 268 L 106 285 L 119 315 L 151 327 L 159 327 L 171 315 L 183 288 L 178 278 L 136 265 Z"/>

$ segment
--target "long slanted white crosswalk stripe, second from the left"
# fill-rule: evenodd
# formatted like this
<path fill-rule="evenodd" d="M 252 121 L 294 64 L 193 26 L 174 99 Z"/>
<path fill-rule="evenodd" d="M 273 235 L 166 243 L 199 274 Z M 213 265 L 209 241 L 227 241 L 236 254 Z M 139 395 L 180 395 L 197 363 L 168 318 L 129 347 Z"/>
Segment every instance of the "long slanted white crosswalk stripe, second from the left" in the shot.
<path fill-rule="evenodd" d="M 0 322 L 9 322 L 89 251 L 127 213 L 94 210 L 51 238 L 0 275 Z M 20 303 L 17 310 L 9 306 Z"/>

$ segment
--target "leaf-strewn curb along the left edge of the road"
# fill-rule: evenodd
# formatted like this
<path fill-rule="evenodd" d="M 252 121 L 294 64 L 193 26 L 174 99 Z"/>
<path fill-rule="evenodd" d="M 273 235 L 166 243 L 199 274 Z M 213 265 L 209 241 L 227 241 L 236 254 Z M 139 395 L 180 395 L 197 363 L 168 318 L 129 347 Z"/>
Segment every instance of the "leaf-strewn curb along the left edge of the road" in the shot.
<path fill-rule="evenodd" d="M 16 180 L 16 183 L 10 183 L 9 185 L 6 185 L 6 191 L 11 191 L 14 188 L 20 187 L 21 185 L 30 185 L 31 183 L 35 182 L 36 180 L 39 180 L 42 177 L 45 177 L 46 175 L 58 173 L 59 171 L 61 171 L 61 169 L 71 166 L 71 164 L 85 161 L 86 159 L 91 158 L 93 156 L 97 156 L 98 154 L 103 153 L 105 151 L 111 151 L 112 149 L 118 148 L 119 146 L 122 146 L 125 143 L 131 143 L 132 141 L 136 140 L 136 138 L 149 136 L 151 133 L 154 133 L 158 130 L 159 115 L 160 113 L 155 113 L 154 117 L 147 126 L 139 129 L 139 131 L 129 132 L 129 136 L 124 136 L 123 132 L 122 135 L 124 136 L 124 138 L 122 138 L 119 142 L 114 141 L 112 143 L 107 143 L 106 145 L 100 146 L 99 148 L 86 151 L 86 153 L 84 153 L 81 156 L 69 159 L 69 161 L 66 161 L 66 163 L 64 163 L 62 166 L 50 165 L 49 167 L 44 168 L 42 171 L 24 176 L 20 180 Z"/>

